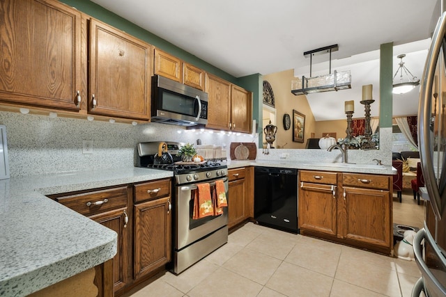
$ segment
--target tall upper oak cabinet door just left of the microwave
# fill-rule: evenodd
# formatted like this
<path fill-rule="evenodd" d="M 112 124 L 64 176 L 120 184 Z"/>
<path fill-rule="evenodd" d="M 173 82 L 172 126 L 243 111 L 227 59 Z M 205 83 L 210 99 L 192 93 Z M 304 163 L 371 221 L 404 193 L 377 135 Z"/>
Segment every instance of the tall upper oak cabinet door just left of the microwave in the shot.
<path fill-rule="evenodd" d="M 148 120 L 151 45 L 91 19 L 89 54 L 89 113 Z"/>

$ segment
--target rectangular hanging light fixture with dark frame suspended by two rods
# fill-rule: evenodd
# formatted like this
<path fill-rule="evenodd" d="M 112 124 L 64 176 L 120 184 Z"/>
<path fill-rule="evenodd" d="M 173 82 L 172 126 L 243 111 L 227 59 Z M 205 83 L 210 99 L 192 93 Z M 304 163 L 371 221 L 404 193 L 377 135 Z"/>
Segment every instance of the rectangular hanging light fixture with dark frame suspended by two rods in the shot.
<path fill-rule="evenodd" d="M 309 56 L 309 77 L 302 76 L 291 81 L 291 93 L 294 95 L 307 95 L 310 93 L 328 92 L 330 90 L 344 90 L 351 88 L 350 71 L 337 72 L 332 74 L 332 51 L 337 51 L 338 45 L 329 45 L 311 51 L 305 51 L 304 56 Z M 312 77 L 312 57 L 316 54 L 330 53 L 329 74 L 319 77 Z"/>

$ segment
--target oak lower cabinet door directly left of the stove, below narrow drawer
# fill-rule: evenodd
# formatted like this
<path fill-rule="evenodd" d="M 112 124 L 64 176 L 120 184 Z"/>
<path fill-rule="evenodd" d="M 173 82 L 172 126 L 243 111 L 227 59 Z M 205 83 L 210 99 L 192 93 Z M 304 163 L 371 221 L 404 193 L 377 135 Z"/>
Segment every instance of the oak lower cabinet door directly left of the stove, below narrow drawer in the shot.
<path fill-rule="evenodd" d="M 134 278 L 139 279 L 171 259 L 171 198 L 134 205 Z"/>

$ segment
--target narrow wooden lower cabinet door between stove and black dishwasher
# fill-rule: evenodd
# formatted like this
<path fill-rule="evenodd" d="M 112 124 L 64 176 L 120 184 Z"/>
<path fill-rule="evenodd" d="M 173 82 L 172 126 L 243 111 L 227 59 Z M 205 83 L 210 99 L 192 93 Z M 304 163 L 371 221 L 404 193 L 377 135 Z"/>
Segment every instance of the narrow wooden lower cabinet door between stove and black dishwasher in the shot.
<path fill-rule="evenodd" d="M 228 184 L 228 227 L 245 220 L 245 179 L 237 179 Z"/>

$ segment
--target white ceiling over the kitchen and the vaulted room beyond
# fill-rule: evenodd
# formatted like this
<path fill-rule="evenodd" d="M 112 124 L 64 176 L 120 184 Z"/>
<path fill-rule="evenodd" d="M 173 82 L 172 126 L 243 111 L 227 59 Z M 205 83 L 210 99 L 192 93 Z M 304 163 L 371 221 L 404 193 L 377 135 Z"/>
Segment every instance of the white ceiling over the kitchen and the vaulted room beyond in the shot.
<path fill-rule="evenodd" d="M 234 77 L 289 69 L 295 69 L 296 76 L 308 75 L 309 59 L 303 52 L 338 44 L 339 51 L 332 53 L 332 70 L 351 70 L 352 89 L 308 95 L 316 120 L 345 118 L 344 101 L 359 101 L 362 85 L 373 83 L 374 99 L 378 99 L 379 68 L 370 56 L 378 53 L 376 63 L 380 45 L 387 42 L 403 47 L 426 40 L 440 10 L 436 0 L 92 1 Z M 394 56 L 407 54 L 406 67 L 421 77 L 424 62 L 415 60 L 424 61 L 427 47 L 429 40 L 415 46 L 414 54 L 401 48 L 394 49 Z M 418 51 L 424 51 L 423 58 Z M 315 58 L 313 76 L 319 63 L 325 65 L 321 74 L 328 73 L 328 59 L 328 55 Z M 395 58 L 394 70 L 397 63 Z M 416 113 L 416 107 L 406 108 L 417 106 L 417 98 L 412 100 L 408 104 L 410 99 L 394 97 L 394 105 L 404 102 L 394 107 L 394 114 Z M 355 106 L 360 109 L 360 104 Z M 371 110 L 377 115 L 378 106 L 372 105 Z"/>

